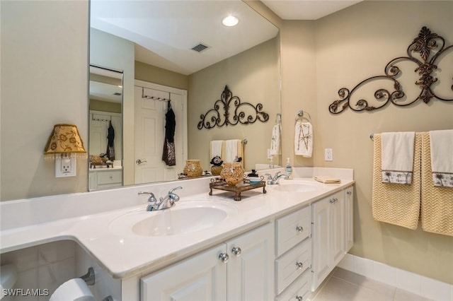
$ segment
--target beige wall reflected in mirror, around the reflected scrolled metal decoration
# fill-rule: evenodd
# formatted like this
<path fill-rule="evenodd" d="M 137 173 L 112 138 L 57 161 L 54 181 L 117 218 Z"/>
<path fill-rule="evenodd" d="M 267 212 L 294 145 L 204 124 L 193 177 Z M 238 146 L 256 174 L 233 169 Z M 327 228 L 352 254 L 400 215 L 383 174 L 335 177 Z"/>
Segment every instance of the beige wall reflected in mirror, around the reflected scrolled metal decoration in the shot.
<path fill-rule="evenodd" d="M 267 149 L 270 147 L 272 127 L 276 114 L 280 113 L 278 40 L 275 37 L 189 76 L 188 158 L 201 160 L 203 170 L 210 170 L 212 140 L 246 138 L 246 170 L 255 168 L 255 163 L 268 163 Z M 268 122 L 197 129 L 200 114 L 214 108 L 214 102 L 220 99 L 225 85 L 241 102 L 263 104 L 263 111 L 270 116 Z M 232 116 L 234 112 L 230 114 Z"/>

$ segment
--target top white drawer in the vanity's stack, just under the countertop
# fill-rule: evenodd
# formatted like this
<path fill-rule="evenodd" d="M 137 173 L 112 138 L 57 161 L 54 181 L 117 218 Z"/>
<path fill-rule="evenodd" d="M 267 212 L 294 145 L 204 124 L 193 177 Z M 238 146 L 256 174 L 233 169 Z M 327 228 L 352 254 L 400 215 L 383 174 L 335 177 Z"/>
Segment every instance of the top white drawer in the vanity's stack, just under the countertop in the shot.
<path fill-rule="evenodd" d="M 280 256 L 311 235 L 311 206 L 275 220 L 275 254 Z"/>

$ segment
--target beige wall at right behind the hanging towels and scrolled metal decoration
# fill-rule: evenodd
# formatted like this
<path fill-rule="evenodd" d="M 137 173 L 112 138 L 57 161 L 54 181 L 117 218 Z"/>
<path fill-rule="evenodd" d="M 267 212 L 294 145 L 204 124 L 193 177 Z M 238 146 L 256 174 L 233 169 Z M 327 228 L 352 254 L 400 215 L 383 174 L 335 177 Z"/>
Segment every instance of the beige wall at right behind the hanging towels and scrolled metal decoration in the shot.
<path fill-rule="evenodd" d="M 375 112 L 333 115 L 328 105 L 338 90 L 382 74 L 406 49 L 423 25 L 453 43 L 452 1 L 364 1 L 314 22 L 285 21 L 282 28 L 282 114 L 284 156 L 293 154 L 292 115 L 299 107 L 314 119 L 314 157 L 297 158 L 297 166 L 354 169 L 355 245 L 352 254 L 406 271 L 453 283 L 453 237 L 407 230 L 372 218 L 372 141 L 383 131 L 430 131 L 453 128 L 453 102 L 432 100 L 409 107 L 389 105 Z M 451 54 L 451 53 L 450 53 Z M 450 55 L 451 57 L 451 55 Z M 404 85 L 418 94 L 413 69 Z M 440 73 L 451 86 L 452 60 L 444 59 Z M 446 88 L 445 88 L 446 87 Z M 445 94 L 446 95 L 446 94 Z M 451 98 L 451 90 L 449 91 Z M 323 149 L 333 149 L 333 162 L 323 160 Z M 452 217 L 453 218 L 453 217 Z"/>

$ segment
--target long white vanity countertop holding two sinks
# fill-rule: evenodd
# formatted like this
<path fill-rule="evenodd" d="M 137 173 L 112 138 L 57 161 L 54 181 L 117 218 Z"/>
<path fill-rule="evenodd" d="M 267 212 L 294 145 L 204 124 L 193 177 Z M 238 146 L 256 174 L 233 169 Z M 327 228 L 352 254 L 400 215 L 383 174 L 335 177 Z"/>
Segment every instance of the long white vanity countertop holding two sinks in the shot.
<path fill-rule="evenodd" d="M 352 172 L 351 172 L 352 175 Z M 99 209 L 91 209 L 87 211 L 86 215 L 71 217 L 69 213 L 62 213 L 63 216 L 58 216 L 56 219 L 37 216 L 38 223 L 30 222 L 28 224 L 20 224 L 17 227 L 7 225 L 8 221 L 2 223 L 2 230 L 0 235 L 1 253 L 10 252 L 16 249 L 31 247 L 33 245 L 42 244 L 46 242 L 53 242 L 57 240 L 74 240 L 78 242 L 83 249 L 90 254 L 93 259 L 105 268 L 113 278 L 125 278 L 132 276 L 136 273 L 141 273 L 145 270 L 154 271 L 158 268 L 171 264 L 175 261 L 183 259 L 187 256 L 200 252 L 202 249 L 211 247 L 214 244 L 224 242 L 231 237 L 238 235 L 241 232 L 250 230 L 257 225 L 263 224 L 272 220 L 277 216 L 289 213 L 296 208 L 322 199 L 328 194 L 333 194 L 340 191 L 345 187 L 349 187 L 354 183 L 352 177 L 342 178 L 341 184 L 321 184 L 314 181 L 312 177 L 301 178 L 308 182 L 313 182 L 320 187 L 316 191 L 306 192 L 285 192 L 277 191 L 273 185 L 267 185 L 266 194 L 263 194 L 263 188 L 253 189 L 243 192 L 241 194 L 241 201 L 234 201 L 233 193 L 230 191 L 221 191 L 214 189 L 213 196 L 209 196 L 209 185 L 206 185 L 206 180 L 201 181 L 202 186 L 194 186 L 190 180 L 178 182 L 182 183 L 184 189 L 176 192 L 181 196 L 181 199 L 176 206 L 183 206 L 185 202 L 195 200 L 205 200 L 212 202 L 226 202 L 237 208 L 237 213 L 234 213 L 229 218 L 219 222 L 212 228 L 200 230 L 197 232 L 190 232 L 187 234 L 159 236 L 159 237 L 144 237 L 132 233 L 117 232 L 110 230 L 109 224 L 125 213 L 130 211 L 145 210 L 146 197 L 137 197 L 137 191 L 143 190 L 143 187 L 135 187 L 127 190 L 131 195 L 129 203 L 134 203 L 133 206 L 122 206 L 115 204 L 111 201 L 112 207 L 115 210 L 98 212 Z M 284 181 L 284 180 L 283 180 Z M 287 180 L 291 181 L 291 180 Z M 171 184 L 175 186 L 175 183 Z M 152 185 L 147 187 L 153 188 Z M 159 191 L 157 186 L 153 191 Z M 124 188 L 123 188 L 124 189 Z M 163 185 L 160 191 L 166 191 L 168 184 Z M 187 190 L 189 195 L 184 195 L 182 191 Z M 193 191 L 197 190 L 197 193 Z M 104 194 L 98 193 L 98 199 L 101 195 L 112 196 L 114 194 L 120 195 L 120 189 L 113 189 L 105 191 Z M 156 196 L 162 195 L 159 191 Z M 121 191 L 121 193 L 125 193 Z M 96 199 L 96 194 L 89 193 L 83 194 L 83 200 Z M 79 198 L 82 202 L 81 196 L 71 196 L 74 199 Z M 118 196 L 120 197 L 120 196 Z M 137 203 L 136 200 L 139 200 Z M 52 200 L 51 200 L 52 201 Z M 55 200 L 53 200 L 55 201 Z M 100 201 L 103 204 L 108 203 L 109 200 Z M 68 206 L 71 207 L 71 199 L 69 199 Z M 80 203 L 79 206 L 82 204 Z M 6 213 L 12 210 L 13 204 L 6 204 Z M 28 203 L 18 203 L 16 206 L 31 206 Z M 48 206 L 55 206 L 55 203 Z M 63 208 L 64 206 L 62 206 Z M 173 208 L 167 209 L 172 210 Z M 23 210 L 23 209 L 21 209 Z M 69 210 L 70 211 L 70 208 Z M 144 214 L 159 214 L 161 211 L 145 212 Z M 2 218 L 4 212 L 2 211 Z M 37 213 L 39 215 L 40 213 Z M 64 216 L 67 214 L 67 216 Z M 33 215 L 32 215 L 33 216 Z M 12 222 L 9 222 L 12 223 Z M 3 230 L 6 229 L 6 230 Z"/>

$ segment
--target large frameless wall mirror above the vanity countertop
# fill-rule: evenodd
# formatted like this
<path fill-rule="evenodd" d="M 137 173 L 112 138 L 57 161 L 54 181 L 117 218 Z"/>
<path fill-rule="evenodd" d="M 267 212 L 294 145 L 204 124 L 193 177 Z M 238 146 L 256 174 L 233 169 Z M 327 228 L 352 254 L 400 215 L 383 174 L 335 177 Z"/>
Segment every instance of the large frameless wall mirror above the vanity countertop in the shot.
<path fill-rule="evenodd" d="M 234 28 L 222 25 L 222 18 L 229 14 L 239 18 Z M 198 159 L 203 170 L 210 170 L 210 141 L 246 139 L 243 151 L 246 170 L 254 169 L 256 164 L 266 166 L 270 162 L 267 150 L 272 129 L 280 114 L 278 33 L 275 25 L 243 1 L 91 1 L 90 64 L 102 66 L 104 71 L 122 71 L 117 74 L 122 74 L 119 92 L 122 97 L 118 98 L 120 103 L 110 105 L 121 107 L 120 112 L 110 112 L 105 110 L 109 107 L 105 103 L 90 100 L 90 155 L 91 151 L 106 153 L 110 117 L 122 119 L 113 126 L 115 161 L 121 160 L 115 167 L 121 170 L 121 180 L 115 182 L 118 178 L 113 177 L 111 183 L 96 183 L 93 172 L 101 173 L 101 169 L 90 169 L 90 189 L 139 183 L 134 179 L 134 170 L 137 160 L 144 158 L 135 158 L 134 154 L 134 102 L 139 101 L 135 94 L 140 90 L 134 88 L 135 80 L 186 91 L 187 107 L 183 110 L 187 120 L 176 121 L 184 122 L 187 131 L 183 159 Z M 192 49 L 195 46 L 207 48 L 197 52 Z M 98 78 L 93 72 L 92 76 Z M 95 85 L 98 83 L 93 81 Z M 242 102 L 263 104 L 269 121 L 197 129 L 200 114 L 214 107 L 225 85 Z M 96 108 L 94 104 L 105 107 Z M 106 112 L 107 117 L 99 117 L 99 112 Z M 105 124 L 91 122 L 92 118 L 103 119 Z M 164 131 L 165 120 L 159 126 Z M 98 131 L 101 134 L 96 134 Z M 120 132 L 122 138 L 116 138 Z M 96 140 L 98 136 L 103 142 Z M 122 146 L 117 146 L 118 143 Z M 164 141 L 152 143 L 161 150 Z M 281 163 L 280 156 L 275 156 L 273 163 Z"/>

